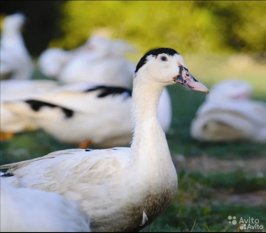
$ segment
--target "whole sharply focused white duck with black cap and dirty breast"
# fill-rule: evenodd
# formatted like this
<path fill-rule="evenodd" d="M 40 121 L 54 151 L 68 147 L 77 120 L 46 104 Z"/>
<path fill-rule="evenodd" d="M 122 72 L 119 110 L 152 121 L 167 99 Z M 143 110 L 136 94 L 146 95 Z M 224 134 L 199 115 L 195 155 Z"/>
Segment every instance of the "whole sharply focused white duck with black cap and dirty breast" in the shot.
<path fill-rule="evenodd" d="M 208 93 L 178 52 L 170 48 L 147 52 L 133 81 L 135 129 L 130 148 L 57 151 L 1 166 L 13 175 L 5 179 L 80 200 L 91 217 L 92 231 L 139 231 L 165 210 L 176 193 L 176 170 L 157 119 L 163 88 L 174 83 Z"/>

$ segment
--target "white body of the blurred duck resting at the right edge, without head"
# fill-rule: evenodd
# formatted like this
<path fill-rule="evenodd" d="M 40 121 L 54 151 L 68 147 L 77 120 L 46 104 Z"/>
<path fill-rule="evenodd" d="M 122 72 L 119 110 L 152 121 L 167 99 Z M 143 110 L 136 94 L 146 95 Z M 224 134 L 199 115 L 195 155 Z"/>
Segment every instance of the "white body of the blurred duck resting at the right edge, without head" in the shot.
<path fill-rule="evenodd" d="M 194 138 L 209 142 L 266 142 L 266 105 L 243 100 L 205 103 L 191 126 Z"/>

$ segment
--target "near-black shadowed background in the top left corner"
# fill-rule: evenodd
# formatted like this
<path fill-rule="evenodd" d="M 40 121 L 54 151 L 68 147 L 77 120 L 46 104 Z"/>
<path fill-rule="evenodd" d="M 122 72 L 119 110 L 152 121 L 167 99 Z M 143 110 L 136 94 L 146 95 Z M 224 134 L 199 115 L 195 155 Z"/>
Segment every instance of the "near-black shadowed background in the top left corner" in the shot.
<path fill-rule="evenodd" d="M 23 30 L 26 46 L 32 55 L 47 48 L 60 33 L 60 6 L 65 1 L 0 1 L 1 16 L 23 12 L 29 19 Z M 2 17 L 1 17 L 2 19 Z"/>

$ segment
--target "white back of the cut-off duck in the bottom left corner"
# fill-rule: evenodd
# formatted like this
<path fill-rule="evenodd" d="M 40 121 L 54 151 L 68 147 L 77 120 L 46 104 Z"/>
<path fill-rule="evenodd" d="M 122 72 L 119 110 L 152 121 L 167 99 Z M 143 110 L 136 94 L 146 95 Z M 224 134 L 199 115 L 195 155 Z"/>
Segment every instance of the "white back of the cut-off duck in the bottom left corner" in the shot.
<path fill-rule="evenodd" d="M 74 202 L 52 192 L 12 187 L 3 178 L 0 182 L 1 232 L 90 232 Z"/>

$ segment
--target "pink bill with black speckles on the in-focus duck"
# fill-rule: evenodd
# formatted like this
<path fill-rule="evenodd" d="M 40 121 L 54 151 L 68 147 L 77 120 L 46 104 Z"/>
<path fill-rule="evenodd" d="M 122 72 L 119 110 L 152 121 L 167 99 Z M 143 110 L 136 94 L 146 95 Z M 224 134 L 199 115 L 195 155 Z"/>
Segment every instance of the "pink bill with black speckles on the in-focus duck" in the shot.
<path fill-rule="evenodd" d="M 196 91 L 202 91 L 206 94 L 209 93 L 209 89 L 205 87 L 201 82 L 196 80 L 196 78 L 194 78 L 192 74 L 189 73 L 188 69 L 182 65 L 179 66 L 179 74 L 174 77 L 174 81 L 181 83 L 184 86 L 190 87 Z"/>

